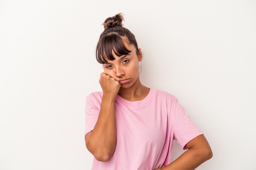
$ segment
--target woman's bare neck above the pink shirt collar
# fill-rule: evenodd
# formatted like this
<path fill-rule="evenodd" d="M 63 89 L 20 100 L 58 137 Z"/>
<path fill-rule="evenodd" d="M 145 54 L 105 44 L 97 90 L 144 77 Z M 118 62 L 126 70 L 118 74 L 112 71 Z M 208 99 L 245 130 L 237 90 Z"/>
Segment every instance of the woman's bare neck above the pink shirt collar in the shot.
<path fill-rule="evenodd" d="M 129 88 L 120 87 L 118 95 L 129 101 L 138 101 L 144 99 L 149 92 L 149 88 L 142 85 L 139 77 L 137 81 Z"/>

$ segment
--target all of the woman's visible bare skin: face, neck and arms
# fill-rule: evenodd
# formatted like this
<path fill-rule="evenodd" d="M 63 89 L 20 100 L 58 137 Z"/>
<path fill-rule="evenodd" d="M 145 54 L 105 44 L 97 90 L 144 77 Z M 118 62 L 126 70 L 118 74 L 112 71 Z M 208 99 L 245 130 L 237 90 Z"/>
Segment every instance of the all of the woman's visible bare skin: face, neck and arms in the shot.
<path fill-rule="evenodd" d="M 99 83 L 103 90 L 99 118 L 93 131 L 85 135 L 87 149 L 99 161 L 108 161 L 115 150 L 116 122 L 115 97 L 118 94 L 130 101 L 144 99 L 149 88 L 141 84 L 139 79 L 139 62 L 142 60 L 141 49 L 137 53 L 134 46 L 124 41 L 126 48 L 131 50 L 128 55 L 103 64 Z M 195 137 L 186 144 L 188 150 L 175 161 L 156 170 L 194 170 L 201 163 L 212 157 L 211 148 L 204 135 Z"/>

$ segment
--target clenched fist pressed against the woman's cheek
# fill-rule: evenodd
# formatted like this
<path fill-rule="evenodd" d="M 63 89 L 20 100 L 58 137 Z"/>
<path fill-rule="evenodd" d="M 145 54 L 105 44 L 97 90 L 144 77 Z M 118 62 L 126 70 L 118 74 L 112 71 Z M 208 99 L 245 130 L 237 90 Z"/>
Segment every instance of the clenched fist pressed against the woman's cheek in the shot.
<path fill-rule="evenodd" d="M 121 84 L 116 81 L 115 78 L 112 78 L 110 75 L 104 72 L 101 73 L 99 83 L 104 93 L 114 96 L 117 95 L 121 87 Z"/>

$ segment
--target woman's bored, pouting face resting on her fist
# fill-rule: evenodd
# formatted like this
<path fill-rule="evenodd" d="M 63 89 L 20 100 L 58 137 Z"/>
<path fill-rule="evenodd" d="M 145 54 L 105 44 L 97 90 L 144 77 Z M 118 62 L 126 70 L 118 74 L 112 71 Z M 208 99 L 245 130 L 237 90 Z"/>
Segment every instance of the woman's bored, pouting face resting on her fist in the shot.
<path fill-rule="evenodd" d="M 103 68 L 106 74 L 121 83 L 121 87 L 128 88 L 131 87 L 139 77 L 139 61 L 142 60 L 142 53 L 139 49 L 138 54 L 135 47 L 130 46 L 126 42 L 124 42 L 124 44 L 131 52 L 121 57 L 118 57 L 112 52 L 115 60 L 107 60 L 108 63 L 103 64 Z"/>

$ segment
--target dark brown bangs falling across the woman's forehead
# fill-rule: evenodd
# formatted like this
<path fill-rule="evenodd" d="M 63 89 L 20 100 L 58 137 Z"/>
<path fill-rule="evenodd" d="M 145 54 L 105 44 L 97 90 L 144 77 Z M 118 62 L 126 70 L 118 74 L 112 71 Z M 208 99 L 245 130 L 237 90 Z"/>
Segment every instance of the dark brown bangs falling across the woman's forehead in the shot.
<path fill-rule="evenodd" d="M 106 36 L 103 36 L 99 39 L 96 48 L 96 59 L 99 63 L 104 64 L 108 63 L 107 60 L 113 61 L 115 57 L 112 54 L 112 51 L 118 56 L 127 55 L 131 51 L 126 48 L 124 45 L 124 38 L 116 33 L 112 33 Z"/>

